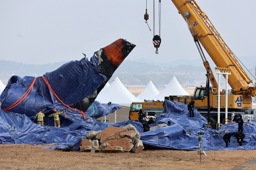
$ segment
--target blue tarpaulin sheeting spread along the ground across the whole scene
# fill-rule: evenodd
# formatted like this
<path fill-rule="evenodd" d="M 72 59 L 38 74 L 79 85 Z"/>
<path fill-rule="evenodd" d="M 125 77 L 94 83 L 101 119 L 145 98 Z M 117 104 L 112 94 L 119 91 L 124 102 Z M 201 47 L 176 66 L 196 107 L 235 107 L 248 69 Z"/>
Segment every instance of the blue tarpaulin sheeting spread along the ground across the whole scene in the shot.
<path fill-rule="evenodd" d="M 195 110 L 195 117 L 189 118 L 187 105 L 175 101 L 164 102 L 164 112 L 156 118 L 153 125 L 159 125 L 171 121 L 171 126 L 156 128 L 148 132 L 142 132 L 142 124 L 135 121 L 122 121 L 119 123 L 98 123 L 95 119 L 85 114 L 74 114 L 74 110 L 65 110 L 68 118 L 65 119 L 61 114 L 61 128 L 52 127 L 53 121 L 49 119 L 48 126 L 41 126 L 32 122 L 26 115 L 13 112 L 4 112 L 0 109 L 0 143 L 25 143 L 30 145 L 59 145 L 54 148 L 67 148 L 72 145 L 78 149 L 81 139 L 91 130 L 104 130 L 113 125 L 115 127 L 124 127 L 132 124 L 141 135 L 144 144 L 156 146 L 159 148 L 179 149 L 179 150 L 199 150 L 200 141 L 198 141 L 198 132 L 204 132 L 202 135 L 202 150 L 251 150 L 256 149 L 256 121 L 252 120 L 246 125 L 244 123 L 245 139 L 243 146 L 237 146 L 237 139 L 231 137 L 228 148 L 225 147 L 221 133 L 236 132 L 237 123 L 228 123 L 222 125 L 219 131 L 206 127 L 206 118 L 201 116 Z M 46 120 L 48 121 L 48 120 Z M 255 123 L 255 124 L 254 124 Z"/>

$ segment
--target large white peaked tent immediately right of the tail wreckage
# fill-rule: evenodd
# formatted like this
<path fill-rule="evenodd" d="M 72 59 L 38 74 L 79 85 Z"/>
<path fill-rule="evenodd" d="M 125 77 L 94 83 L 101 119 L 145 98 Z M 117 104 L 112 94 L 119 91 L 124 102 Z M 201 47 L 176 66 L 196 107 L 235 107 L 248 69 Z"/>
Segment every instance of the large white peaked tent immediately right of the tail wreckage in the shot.
<path fill-rule="evenodd" d="M 132 102 L 141 101 L 124 87 L 118 77 L 115 78 L 106 90 L 100 92 L 95 100 L 100 103 L 109 103 L 110 101 L 111 103 L 127 107 L 130 107 Z"/>

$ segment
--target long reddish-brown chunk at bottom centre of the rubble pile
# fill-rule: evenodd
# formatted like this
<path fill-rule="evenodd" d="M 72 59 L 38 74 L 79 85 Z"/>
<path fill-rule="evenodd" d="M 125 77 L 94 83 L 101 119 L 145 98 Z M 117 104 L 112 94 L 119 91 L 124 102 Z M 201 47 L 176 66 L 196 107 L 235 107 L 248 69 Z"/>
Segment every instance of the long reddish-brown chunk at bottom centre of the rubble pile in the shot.
<path fill-rule="evenodd" d="M 100 144 L 100 149 L 106 148 L 107 146 L 120 146 L 124 152 L 129 152 L 134 147 L 133 141 L 127 137 L 104 141 Z"/>

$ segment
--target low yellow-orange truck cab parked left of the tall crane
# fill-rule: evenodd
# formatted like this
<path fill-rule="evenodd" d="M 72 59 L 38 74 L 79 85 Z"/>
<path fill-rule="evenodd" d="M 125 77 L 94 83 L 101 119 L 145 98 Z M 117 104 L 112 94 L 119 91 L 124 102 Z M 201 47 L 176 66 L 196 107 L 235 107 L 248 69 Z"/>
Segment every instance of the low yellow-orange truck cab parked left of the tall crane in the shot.
<path fill-rule="evenodd" d="M 155 121 L 156 116 L 163 113 L 163 101 L 145 100 L 144 102 L 132 102 L 129 111 L 129 120 L 139 121 L 139 110 L 142 109 L 145 121 L 150 117 Z"/>

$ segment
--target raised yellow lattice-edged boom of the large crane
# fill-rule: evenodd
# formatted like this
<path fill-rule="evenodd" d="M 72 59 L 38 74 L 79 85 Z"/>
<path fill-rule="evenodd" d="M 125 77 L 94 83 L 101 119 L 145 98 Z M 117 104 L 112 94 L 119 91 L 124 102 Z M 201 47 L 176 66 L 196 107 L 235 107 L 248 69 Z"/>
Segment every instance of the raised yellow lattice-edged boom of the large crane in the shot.
<path fill-rule="evenodd" d="M 172 2 L 187 22 L 193 38 L 197 37 L 215 65 L 231 69 L 228 84 L 233 93 L 256 96 L 256 88 L 249 87 L 252 80 L 250 80 L 235 54 L 226 45 L 208 16 L 200 9 L 195 0 L 172 0 Z"/>

